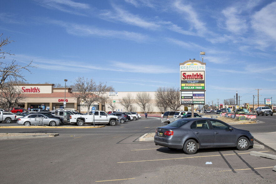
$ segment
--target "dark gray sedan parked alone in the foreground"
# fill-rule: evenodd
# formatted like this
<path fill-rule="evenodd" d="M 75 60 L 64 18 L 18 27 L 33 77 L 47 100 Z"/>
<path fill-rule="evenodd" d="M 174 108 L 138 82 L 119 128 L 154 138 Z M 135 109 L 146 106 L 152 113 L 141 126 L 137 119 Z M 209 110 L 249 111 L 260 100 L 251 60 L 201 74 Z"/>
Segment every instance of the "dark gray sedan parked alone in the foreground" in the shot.
<path fill-rule="evenodd" d="M 236 129 L 227 123 L 212 118 L 183 118 L 169 125 L 157 127 L 156 145 L 183 149 L 194 154 L 199 148 L 236 147 L 247 150 L 254 144 L 253 135 L 247 130 Z"/>

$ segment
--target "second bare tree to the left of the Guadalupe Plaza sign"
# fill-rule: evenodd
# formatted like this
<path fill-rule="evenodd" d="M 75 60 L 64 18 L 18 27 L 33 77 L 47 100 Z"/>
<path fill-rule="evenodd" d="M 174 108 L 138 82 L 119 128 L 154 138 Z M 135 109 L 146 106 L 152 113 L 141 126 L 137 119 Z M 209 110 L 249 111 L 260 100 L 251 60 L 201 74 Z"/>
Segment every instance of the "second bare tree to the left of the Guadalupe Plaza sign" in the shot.
<path fill-rule="evenodd" d="M 155 105 L 161 111 L 162 114 L 168 110 L 168 95 L 167 87 L 159 87 L 154 93 Z"/>

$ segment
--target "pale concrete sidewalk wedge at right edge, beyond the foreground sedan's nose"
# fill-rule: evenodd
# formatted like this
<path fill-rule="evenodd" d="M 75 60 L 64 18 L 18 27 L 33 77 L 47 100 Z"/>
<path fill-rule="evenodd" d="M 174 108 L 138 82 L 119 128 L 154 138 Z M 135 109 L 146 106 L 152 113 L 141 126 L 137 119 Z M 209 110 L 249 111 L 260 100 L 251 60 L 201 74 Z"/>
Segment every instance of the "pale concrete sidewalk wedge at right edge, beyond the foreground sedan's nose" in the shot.
<path fill-rule="evenodd" d="M 255 141 L 276 152 L 276 132 L 253 133 Z"/>

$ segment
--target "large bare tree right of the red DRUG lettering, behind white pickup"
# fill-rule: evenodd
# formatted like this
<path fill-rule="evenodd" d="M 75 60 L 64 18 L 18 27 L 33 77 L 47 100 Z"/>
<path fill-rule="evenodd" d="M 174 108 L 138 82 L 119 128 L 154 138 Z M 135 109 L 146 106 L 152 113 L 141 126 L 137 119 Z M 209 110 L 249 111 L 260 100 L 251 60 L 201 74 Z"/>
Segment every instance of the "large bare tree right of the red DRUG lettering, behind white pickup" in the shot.
<path fill-rule="evenodd" d="M 108 99 L 106 92 L 112 88 L 112 86 L 107 86 L 106 83 L 100 82 L 97 84 L 94 79 L 84 79 L 84 77 L 77 78 L 74 85 L 77 92 L 72 93 L 72 96 L 83 100 L 88 106 L 88 112 L 91 104 L 106 102 Z"/>

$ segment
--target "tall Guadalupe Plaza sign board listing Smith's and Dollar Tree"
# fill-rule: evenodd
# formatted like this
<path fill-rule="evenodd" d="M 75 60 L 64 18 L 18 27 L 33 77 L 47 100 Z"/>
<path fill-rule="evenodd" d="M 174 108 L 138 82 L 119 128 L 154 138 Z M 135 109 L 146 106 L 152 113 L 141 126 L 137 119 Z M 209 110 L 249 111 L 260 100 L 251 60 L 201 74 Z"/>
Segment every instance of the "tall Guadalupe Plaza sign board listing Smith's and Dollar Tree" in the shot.
<path fill-rule="evenodd" d="M 205 104 L 206 63 L 187 60 L 179 65 L 181 104 Z"/>

